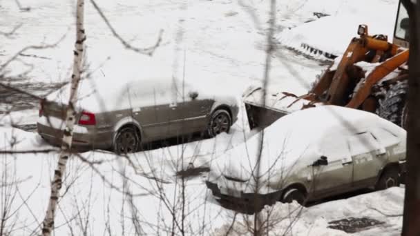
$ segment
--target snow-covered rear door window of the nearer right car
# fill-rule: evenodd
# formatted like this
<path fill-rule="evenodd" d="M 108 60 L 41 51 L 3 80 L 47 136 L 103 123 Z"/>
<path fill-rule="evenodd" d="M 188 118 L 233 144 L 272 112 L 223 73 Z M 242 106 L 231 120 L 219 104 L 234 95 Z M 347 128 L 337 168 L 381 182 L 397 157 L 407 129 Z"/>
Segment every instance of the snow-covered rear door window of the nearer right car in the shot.
<path fill-rule="evenodd" d="M 352 156 L 363 153 L 370 153 L 374 150 L 381 149 L 381 145 L 376 141 L 375 137 L 370 132 L 361 132 L 356 135 L 348 137 L 350 146 L 350 154 Z"/>

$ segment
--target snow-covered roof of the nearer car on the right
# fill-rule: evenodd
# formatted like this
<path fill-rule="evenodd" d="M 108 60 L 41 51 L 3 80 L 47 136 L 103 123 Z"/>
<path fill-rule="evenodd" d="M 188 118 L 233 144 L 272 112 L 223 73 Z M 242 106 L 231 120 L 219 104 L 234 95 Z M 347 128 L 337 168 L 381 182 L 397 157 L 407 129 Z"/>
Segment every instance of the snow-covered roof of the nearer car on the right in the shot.
<path fill-rule="evenodd" d="M 332 135 L 354 135 L 379 127 L 401 137 L 405 130 L 372 112 L 341 106 L 317 106 L 286 115 L 266 128 L 267 140 L 296 136 L 300 143 L 312 143 Z M 287 135 L 289 133 L 289 135 Z M 276 138 L 277 137 L 277 138 Z"/>

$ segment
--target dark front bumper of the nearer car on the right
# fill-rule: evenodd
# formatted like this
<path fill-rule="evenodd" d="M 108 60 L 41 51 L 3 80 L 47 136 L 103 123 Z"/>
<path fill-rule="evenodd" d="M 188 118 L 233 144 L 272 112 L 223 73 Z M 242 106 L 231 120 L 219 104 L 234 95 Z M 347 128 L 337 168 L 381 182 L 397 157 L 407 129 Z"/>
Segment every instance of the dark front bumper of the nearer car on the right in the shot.
<path fill-rule="evenodd" d="M 276 204 L 282 193 L 281 191 L 267 194 L 244 193 L 238 189 L 218 186 L 211 181 L 206 181 L 206 185 L 222 206 L 247 214 L 254 214 L 262 210 L 265 205 Z"/>

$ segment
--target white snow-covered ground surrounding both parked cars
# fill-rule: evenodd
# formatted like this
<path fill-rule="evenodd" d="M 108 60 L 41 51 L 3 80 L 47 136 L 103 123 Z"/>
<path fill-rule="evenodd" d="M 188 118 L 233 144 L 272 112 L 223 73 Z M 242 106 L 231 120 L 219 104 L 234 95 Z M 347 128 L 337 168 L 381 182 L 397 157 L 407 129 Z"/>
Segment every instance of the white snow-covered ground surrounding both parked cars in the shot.
<path fill-rule="evenodd" d="M 10 32 L 19 26 L 10 37 L 0 35 L 0 64 L 26 46 L 54 43 L 57 46 L 23 52 L 6 68 L 8 77 L 23 73 L 10 83 L 68 81 L 75 38 L 75 1 L 20 0 L 19 3 L 30 7 L 30 11 L 19 10 L 15 1 L 0 2 L 0 31 Z M 262 79 L 269 1 L 101 0 L 97 3 L 117 32 L 133 46 L 151 46 L 160 30 L 163 34 L 153 57 L 138 55 L 113 37 L 92 4 L 86 1 L 86 56 L 90 70 L 102 66 L 104 61 L 116 61 L 111 65 L 114 70 L 119 68 L 119 63 L 137 68 L 133 70 L 133 76 L 155 70 L 170 72 L 178 78 L 185 74 L 185 79 L 196 86 L 209 92 L 234 95 L 239 101 L 249 83 Z M 397 0 L 369 3 L 361 0 L 323 3 L 318 0 L 279 0 L 276 39 L 280 46 L 272 59 L 269 83 L 296 95 L 303 94 L 316 75 L 325 69 L 325 64 L 296 55 L 283 46 L 300 50 L 300 44 L 307 43 L 339 55 L 356 35 L 360 23 L 369 23 L 373 33 L 391 37 L 396 11 Z M 313 12 L 331 16 L 318 19 Z M 311 22 L 305 23 L 307 21 Z M 117 82 L 118 78 L 115 78 Z M 35 92 L 45 95 L 50 91 Z M 0 109 L 4 112 L 8 107 L 0 104 Z M 3 112 L 0 112 L 0 150 L 52 148 L 35 133 L 9 126 L 10 123 L 35 123 L 36 107 L 10 115 Z M 180 234 L 182 183 L 175 178 L 176 170 L 190 163 L 193 166 L 207 165 L 252 134 L 242 108 L 232 132 L 216 139 L 136 153 L 130 157 L 132 162 L 104 152 L 82 154 L 89 161 L 96 161 L 93 167 L 82 159 L 71 159 L 65 186 L 69 188 L 59 202 L 55 235 L 81 235 L 84 230 L 88 235 L 108 235 L 108 231 L 109 235 L 132 235 L 135 232 L 166 235 L 173 225 Z M 10 146 L 10 141 L 13 146 Z M 10 187 L 14 193 L 12 209 L 17 210 L 12 217 L 17 219 L 17 231 L 12 235 L 30 235 L 33 230 L 39 232 L 57 153 L 3 154 L 1 161 L 2 183 L 6 186 L 17 183 L 18 187 Z M 188 235 L 222 235 L 229 228 L 233 212 L 213 200 L 203 177 L 187 179 L 186 186 L 185 232 Z M 303 208 L 291 230 L 287 228 L 290 219 L 285 219 L 272 233 L 280 234 L 287 229 L 293 235 L 346 235 L 343 231 L 327 228 L 327 222 L 347 217 L 372 217 L 384 224 L 354 235 L 397 235 L 401 229 L 401 217 L 385 217 L 384 214 L 399 215 L 402 206 L 403 188 L 392 188 Z M 289 215 L 289 210 L 296 207 L 276 204 L 272 210 L 281 217 Z M 177 219 L 175 223 L 174 218 Z M 238 222 L 241 221 L 242 215 L 238 217 Z M 240 230 L 240 226 L 235 227 Z"/>

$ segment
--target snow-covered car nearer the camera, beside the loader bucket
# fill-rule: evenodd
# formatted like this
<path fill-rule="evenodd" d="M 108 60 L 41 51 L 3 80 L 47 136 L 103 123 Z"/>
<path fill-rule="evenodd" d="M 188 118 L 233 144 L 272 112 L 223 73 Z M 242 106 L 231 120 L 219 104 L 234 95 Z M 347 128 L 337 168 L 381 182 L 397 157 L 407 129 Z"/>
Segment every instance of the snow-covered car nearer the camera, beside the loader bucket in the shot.
<path fill-rule="evenodd" d="M 359 188 L 399 186 L 405 171 L 405 130 L 370 112 L 307 108 L 265 128 L 262 141 L 261 135 L 213 161 L 206 184 L 216 199 L 251 208 L 305 204 Z"/>

